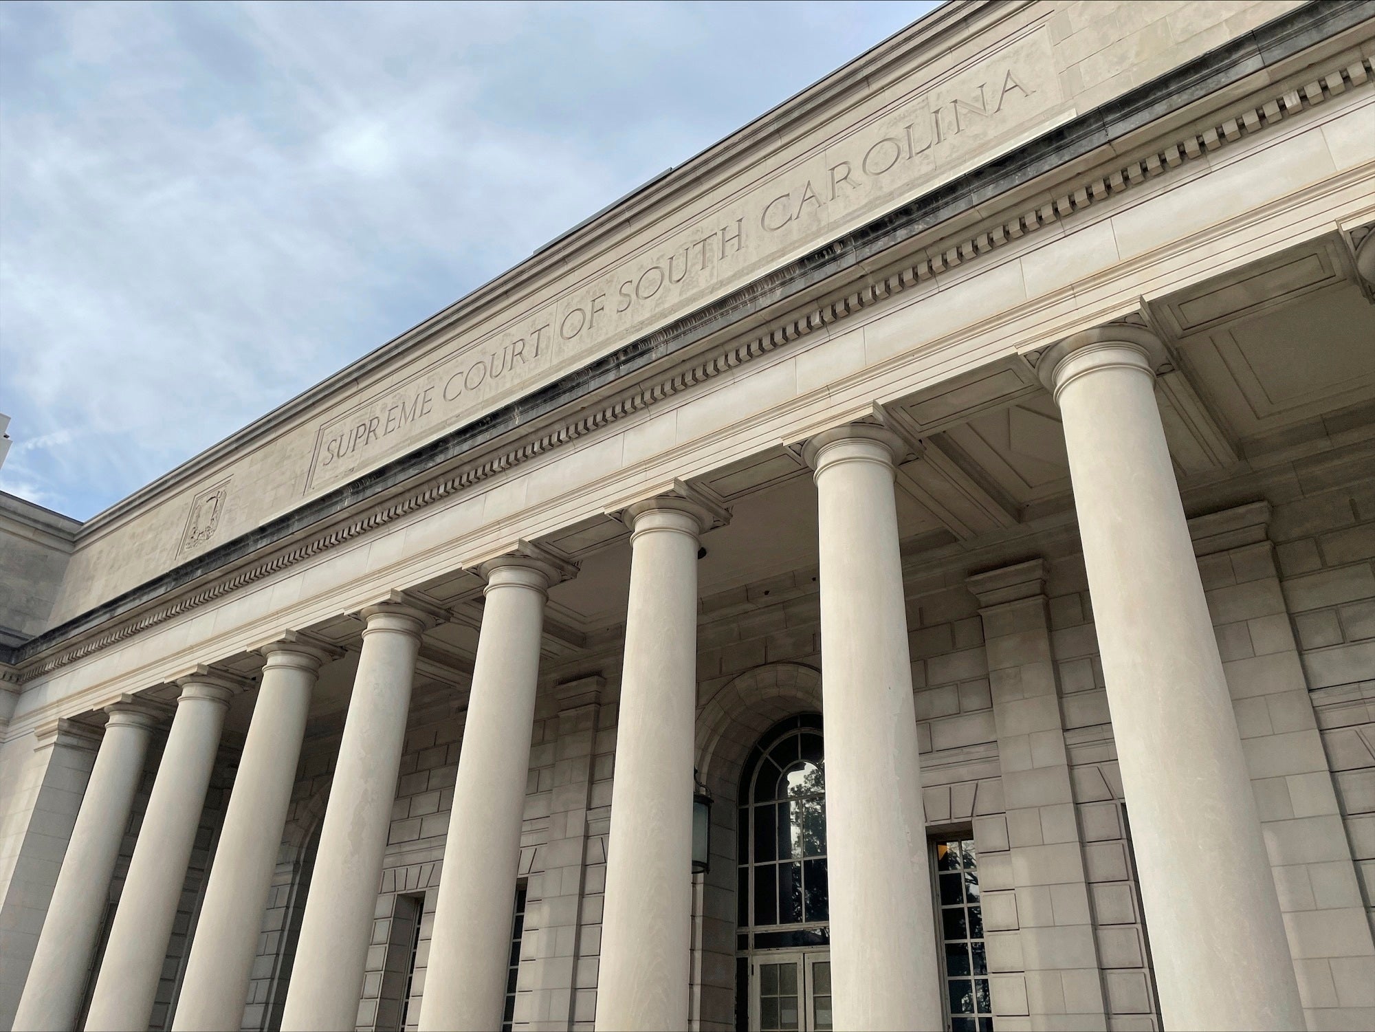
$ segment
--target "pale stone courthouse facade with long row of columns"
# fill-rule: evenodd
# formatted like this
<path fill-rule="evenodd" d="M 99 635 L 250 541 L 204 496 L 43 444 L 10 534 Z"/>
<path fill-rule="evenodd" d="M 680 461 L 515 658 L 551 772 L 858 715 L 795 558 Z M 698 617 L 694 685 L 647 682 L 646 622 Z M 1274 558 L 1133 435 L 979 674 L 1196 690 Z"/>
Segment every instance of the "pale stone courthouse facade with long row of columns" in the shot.
<path fill-rule="evenodd" d="M 1372 56 L 954 0 L 0 499 L 0 1025 L 1375 1026 Z"/>

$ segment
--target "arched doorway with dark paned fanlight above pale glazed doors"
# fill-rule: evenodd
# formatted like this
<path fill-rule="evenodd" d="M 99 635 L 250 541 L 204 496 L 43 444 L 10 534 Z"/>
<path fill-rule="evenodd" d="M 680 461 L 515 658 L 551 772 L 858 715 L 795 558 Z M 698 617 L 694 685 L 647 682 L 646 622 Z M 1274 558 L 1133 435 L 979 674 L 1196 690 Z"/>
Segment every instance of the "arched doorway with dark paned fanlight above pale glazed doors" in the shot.
<path fill-rule="evenodd" d="M 760 736 L 740 780 L 736 1028 L 830 1029 L 826 772 L 820 714 Z"/>

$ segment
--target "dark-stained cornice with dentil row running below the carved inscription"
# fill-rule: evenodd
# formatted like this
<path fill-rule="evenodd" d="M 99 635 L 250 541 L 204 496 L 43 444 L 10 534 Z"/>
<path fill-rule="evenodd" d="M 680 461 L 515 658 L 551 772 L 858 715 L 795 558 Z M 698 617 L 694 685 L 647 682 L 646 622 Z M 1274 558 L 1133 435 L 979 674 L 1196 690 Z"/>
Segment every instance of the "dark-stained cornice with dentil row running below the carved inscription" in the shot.
<path fill-rule="evenodd" d="M 1327 22 L 1335 26 L 1328 33 L 1331 36 L 1360 23 L 1365 18 L 1375 17 L 1375 3 L 1361 0 L 1360 3 L 1313 6 L 1298 8 L 1295 15 L 1304 11 L 1309 12 L 1309 22 L 1327 19 Z M 594 407 L 580 411 L 572 418 L 558 418 L 556 414 L 554 421 L 534 432 L 529 431 L 528 425 L 522 427 L 520 422 L 516 422 L 512 428 L 503 428 L 500 418 L 488 417 L 476 427 L 477 433 L 491 431 L 485 440 L 478 439 L 473 444 L 462 447 L 465 436 L 474 429 L 465 428 L 455 432 L 451 442 L 441 440 L 417 449 L 406 457 L 402 469 L 407 469 L 406 464 L 417 460 L 428 460 L 428 465 L 448 462 L 455 454 L 446 454 L 446 449 L 456 449 L 456 454 L 459 455 L 462 451 L 488 449 L 485 454 L 476 460 L 432 476 L 428 482 L 412 486 L 360 513 L 348 515 L 337 526 L 320 533 L 308 534 L 304 539 L 279 548 L 279 550 L 270 556 L 258 559 L 253 559 L 252 555 L 245 556 L 248 561 L 236 570 L 223 574 L 217 574 L 213 570 L 199 571 L 188 578 L 188 581 L 205 577 L 212 577 L 213 579 L 190 589 L 173 601 L 157 604 L 155 599 L 150 600 L 153 604 L 144 612 L 126 619 L 118 626 L 102 629 L 102 625 L 117 621 L 122 615 L 116 611 L 109 616 L 100 618 L 99 614 L 103 610 L 114 607 L 121 601 L 120 599 L 113 600 L 92 614 L 78 616 L 67 625 L 55 627 L 23 645 L 15 647 L 10 651 L 8 662 L 19 667 L 22 681 L 30 681 L 48 674 L 94 652 L 118 644 L 142 630 L 212 603 L 239 588 L 256 583 L 380 527 L 395 523 L 434 502 L 450 498 L 458 491 L 473 487 L 547 451 L 579 440 L 612 422 L 637 414 L 667 398 L 672 398 L 685 389 L 712 380 L 722 373 L 820 329 L 833 326 L 879 301 L 895 297 L 918 283 L 934 279 L 936 275 L 982 259 L 1027 234 L 1033 234 L 1070 215 L 1082 212 L 1110 197 L 1115 197 L 1147 180 L 1167 175 L 1173 169 L 1191 165 L 1191 162 L 1196 162 L 1220 149 L 1272 129 L 1286 118 L 1317 106 L 1332 96 L 1342 95 L 1353 88 L 1370 88 L 1372 85 L 1372 81 L 1375 81 L 1372 78 L 1375 77 L 1375 69 L 1372 69 L 1370 58 L 1334 62 L 1321 70 L 1309 70 L 1304 76 L 1305 83 L 1302 85 L 1275 88 L 1261 94 L 1261 99 L 1257 99 L 1254 103 L 1247 102 L 1240 107 L 1231 105 L 1228 110 L 1235 113 L 1220 118 L 1217 124 L 1209 124 L 1200 116 L 1202 128 L 1195 125 L 1185 132 L 1167 136 L 1158 146 L 1144 147 L 1143 154 L 1137 158 L 1112 162 L 1089 175 L 1071 178 L 1057 189 L 1049 191 L 1049 194 L 1040 194 L 1042 200 L 1037 204 L 1020 211 L 1013 209 L 1005 216 L 982 223 L 976 230 L 965 230 L 947 238 L 936 238 L 920 253 L 905 259 L 895 268 L 890 268 L 886 272 L 870 274 L 866 270 L 865 263 L 880 256 L 883 252 L 903 242 L 920 242 L 923 237 L 930 237 L 931 230 L 960 215 L 961 211 L 969 211 L 975 204 L 983 204 L 987 198 L 998 195 L 998 193 L 1006 193 L 1013 187 L 1024 186 L 1028 175 L 1042 175 L 1067 161 L 1072 161 L 1077 155 L 1082 157 L 1097 151 L 1103 144 L 1111 143 L 1115 138 L 1138 133 L 1143 125 L 1156 121 L 1169 113 L 1169 110 L 1160 109 L 1165 103 L 1163 100 L 1156 102 L 1154 106 L 1148 103 L 1150 98 L 1158 96 L 1169 85 L 1166 80 L 1180 80 L 1192 84 L 1192 89 L 1185 89 L 1178 96 L 1178 107 L 1184 107 L 1198 99 L 1194 94 L 1200 89 L 1199 84 L 1206 80 L 1207 70 L 1211 67 L 1210 62 L 1221 63 L 1228 74 L 1244 78 L 1260 67 L 1276 63 L 1284 56 L 1291 56 L 1277 52 L 1277 48 L 1286 40 L 1294 45 L 1294 54 L 1298 54 L 1316 41 L 1327 39 L 1321 36 L 1319 40 L 1314 40 L 1310 34 L 1305 36 L 1294 29 L 1294 25 L 1290 23 L 1291 21 L 1294 19 L 1276 19 L 1248 36 L 1233 40 L 1217 51 L 1211 51 L 1198 61 L 1169 73 L 1160 80 L 1154 80 L 1126 94 L 1118 102 L 1106 105 L 1103 109 L 1075 120 L 1075 122 L 1059 127 L 1050 133 L 1053 136 L 1050 143 L 1057 149 L 1060 160 L 1048 168 L 1041 168 L 1041 165 L 1046 164 L 1048 157 L 1038 154 L 1037 149 L 1028 144 L 1022 149 L 1022 158 L 1008 158 L 994 162 L 972 172 L 958 183 L 942 187 L 896 212 L 881 216 L 846 238 L 799 259 L 792 266 L 760 277 L 741 290 L 648 334 L 632 345 L 623 348 L 612 359 L 617 359 L 626 352 L 639 352 L 644 356 L 641 365 L 656 363 L 664 355 L 688 348 L 703 337 L 719 332 L 723 329 L 719 325 L 722 322 L 729 325 L 729 322 L 734 322 L 740 315 L 749 315 L 763 308 L 774 307 L 780 301 L 786 301 L 789 293 L 815 288 L 822 281 L 839 272 L 858 271 L 861 275 L 857 277 L 854 289 L 850 292 L 839 293 L 839 296 L 833 293 L 824 301 L 811 303 L 802 310 L 793 310 L 786 316 L 769 321 L 760 329 L 752 332 L 744 341 L 733 341 L 703 356 L 689 359 L 676 369 L 660 373 L 659 376 L 650 376 L 634 387 L 612 395 L 601 405 L 594 405 Z M 1269 36 L 1261 39 L 1266 33 Z M 1246 41 L 1250 41 L 1248 48 L 1244 45 Z M 1243 59 L 1247 52 L 1253 51 L 1254 61 Z M 1266 51 L 1269 52 L 1268 58 L 1265 56 Z M 1214 84 L 1213 88 L 1218 89 L 1221 85 L 1225 85 L 1225 81 Z M 1207 94 L 1203 92 L 1200 95 L 1206 96 Z M 1130 113 L 1136 113 L 1143 121 L 1140 124 L 1132 121 L 1128 117 Z M 1004 189 L 994 189 L 1000 182 L 1004 183 Z M 1046 195 L 1049 195 L 1049 200 L 1044 200 Z M 964 206 L 961 208 L 958 202 L 964 202 Z M 678 344 L 674 345 L 672 341 L 678 341 Z M 594 366 L 597 365 L 594 363 Z M 612 376 L 609 370 L 600 372 L 600 374 L 590 377 L 590 391 L 605 388 L 615 378 L 617 377 Z M 524 399 L 512 407 L 518 413 L 522 403 Z M 513 432 L 520 432 L 521 436 L 514 443 L 503 444 L 503 439 L 509 439 Z M 414 472 L 408 472 L 407 469 L 404 479 L 410 479 L 411 476 L 414 476 Z M 340 488 L 336 494 L 340 494 L 345 501 L 355 499 L 360 494 L 359 486 L 366 487 L 368 482 L 380 483 L 380 490 L 392 488 L 392 484 L 385 483 L 385 477 L 381 473 L 371 473 L 360 477 L 353 484 Z M 362 501 L 366 504 L 366 497 Z M 298 531 L 298 528 L 293 527 L 292 531 Z M 232 548 L 232 545 L 234 542 L 230 542 L 230 545 L 221 546 L 202 559 L 213 559 Z M 268 546 L 271 546 L 271 542 L 268 542 Z M 138 590 L 135 589 L 135 592 Z M 168 590 L 179 590 L 179 586 Z M 131 607 L 138 604 L 138 601 L 131 603 Z M 87 626 L 81 626 L 82 623 Z M 81 634 L 88 634 L 88 637 L 78 644 L 62 648 L 65 641 Z M 0 660 L 6 659 L 7 656 L 0 655 Z"/>

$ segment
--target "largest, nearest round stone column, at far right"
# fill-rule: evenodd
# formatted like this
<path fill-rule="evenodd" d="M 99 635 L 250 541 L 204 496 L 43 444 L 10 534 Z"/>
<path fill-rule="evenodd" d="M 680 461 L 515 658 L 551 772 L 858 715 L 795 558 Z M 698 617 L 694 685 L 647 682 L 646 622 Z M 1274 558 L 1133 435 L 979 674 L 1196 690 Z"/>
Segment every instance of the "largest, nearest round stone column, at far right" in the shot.
<path fill-rule="evenodd" d="M 1302 1029 L 1255 797 L 1160 413 L 1159 341 L 1104 326 L 1040 370 L 1064 422 L 1167 1028 Z"/>

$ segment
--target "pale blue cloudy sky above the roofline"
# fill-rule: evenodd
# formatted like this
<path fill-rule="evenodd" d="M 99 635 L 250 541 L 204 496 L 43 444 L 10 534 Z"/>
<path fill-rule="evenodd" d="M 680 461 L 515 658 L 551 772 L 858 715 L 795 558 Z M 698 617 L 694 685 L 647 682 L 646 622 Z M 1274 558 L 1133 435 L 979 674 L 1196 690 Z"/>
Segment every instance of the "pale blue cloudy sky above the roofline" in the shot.
<path fill-rule="evenodd" d="M 0 488 L 94 516 L 932 7 L 0 4 Z"/>

